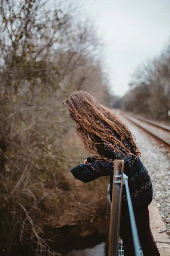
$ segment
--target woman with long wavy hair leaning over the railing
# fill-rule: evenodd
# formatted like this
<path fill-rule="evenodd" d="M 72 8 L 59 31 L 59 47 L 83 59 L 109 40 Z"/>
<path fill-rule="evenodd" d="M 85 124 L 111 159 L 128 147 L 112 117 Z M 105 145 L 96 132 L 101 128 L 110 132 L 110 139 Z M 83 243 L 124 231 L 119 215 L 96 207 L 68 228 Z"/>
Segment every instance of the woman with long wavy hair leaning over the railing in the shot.
<path fill-rule="evenodd" d="M 110 175 L 112 199 L 114 159 L 124 160 L 124 173 L 128 176 L 140 246 L 144 256 L 160 256 L 149 229 L 148 205 L 152 201 L 152 183 L 139 159 L 141 153 L 128 127 L 115 113 L 86 92 L 74 92 L 63 104 L 76 121 L 76 132 L 83 141 L 85 152 L 92 155 L 84 164 L 73 168 L 70 174 L 83 182 Z M 135 255 L 125 186 L 122 191 L 120 237 L 124 255 Z"/>

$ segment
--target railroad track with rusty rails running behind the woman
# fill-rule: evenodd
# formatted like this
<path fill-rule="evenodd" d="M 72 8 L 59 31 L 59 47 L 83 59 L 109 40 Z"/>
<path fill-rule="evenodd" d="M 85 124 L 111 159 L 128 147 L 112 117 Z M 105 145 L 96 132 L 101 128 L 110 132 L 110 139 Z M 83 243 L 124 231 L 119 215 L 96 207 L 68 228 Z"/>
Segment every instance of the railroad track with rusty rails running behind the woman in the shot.
<path fill-rule="evenodd" d="M 170 147 L 170 128 L 168 126 L 163 126 L 162 124 L 158 124 L 156 122 L 150 121 L 148 119 L 124 111 L 120 111 L 120 115 L 122 115 L 138 127 L 144 129 L 152 136 L 159 139 L 164 144 Z"/>

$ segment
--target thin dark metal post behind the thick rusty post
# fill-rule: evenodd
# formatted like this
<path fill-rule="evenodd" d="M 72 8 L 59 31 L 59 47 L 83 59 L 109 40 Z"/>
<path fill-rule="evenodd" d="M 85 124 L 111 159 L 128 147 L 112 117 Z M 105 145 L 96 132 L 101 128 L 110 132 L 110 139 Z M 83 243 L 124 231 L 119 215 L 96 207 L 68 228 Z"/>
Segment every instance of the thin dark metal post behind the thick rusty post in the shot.
<path fill-rule="evenodd" d="M 109 248 L 109 236 L 110 236 L 110 211 L 111 211 L 111 201 L 110 201 L 110 176 L 108 176 L 107 181 L 107 212 L 106 212 L 106 245 L 105 245 L 105 256 L 108 256 Z"/>

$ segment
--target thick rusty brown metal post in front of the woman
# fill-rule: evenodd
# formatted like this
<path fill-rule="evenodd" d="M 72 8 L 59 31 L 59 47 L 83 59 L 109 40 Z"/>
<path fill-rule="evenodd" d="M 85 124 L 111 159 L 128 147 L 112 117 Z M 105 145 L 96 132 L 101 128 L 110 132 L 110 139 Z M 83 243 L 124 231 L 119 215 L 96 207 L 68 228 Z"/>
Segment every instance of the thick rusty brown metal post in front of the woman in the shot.
<path fill-rule="evenodd" d="M 114 160 L 109 256 L 118 255 L 124 160 Z"/>

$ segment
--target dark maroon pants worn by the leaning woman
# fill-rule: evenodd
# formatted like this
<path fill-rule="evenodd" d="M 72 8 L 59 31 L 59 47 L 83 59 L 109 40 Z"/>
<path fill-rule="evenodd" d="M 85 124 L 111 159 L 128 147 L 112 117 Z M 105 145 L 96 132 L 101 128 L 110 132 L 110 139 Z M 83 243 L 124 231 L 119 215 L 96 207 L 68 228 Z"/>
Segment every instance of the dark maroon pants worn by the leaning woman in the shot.
<path fill-rule="evenodd" d="M 140 246 L 144 256 L 160 256 L 158 248 L 153 240 L 149 229 L 148 206 L 140 208 L 134 207 L 134 214 L 140 240 Z M 120 237 L 123 241 L 124 256 L 135 256 L 129 211 L 127 206 L 122 206 L 121 209 Z"/>

